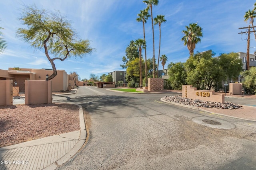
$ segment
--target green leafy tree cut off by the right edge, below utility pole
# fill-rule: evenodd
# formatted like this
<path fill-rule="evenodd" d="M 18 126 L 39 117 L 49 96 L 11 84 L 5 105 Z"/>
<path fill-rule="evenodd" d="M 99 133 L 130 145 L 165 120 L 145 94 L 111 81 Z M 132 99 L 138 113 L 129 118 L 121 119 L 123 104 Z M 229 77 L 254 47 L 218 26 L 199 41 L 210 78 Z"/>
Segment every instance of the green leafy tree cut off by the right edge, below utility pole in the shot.
<path fill-rule="evenodd" d="M 241 72 L 243 79 L 243 87 L 250 92 L 256 94 L 256 67 L 251 67 L 250 70 Z"/>

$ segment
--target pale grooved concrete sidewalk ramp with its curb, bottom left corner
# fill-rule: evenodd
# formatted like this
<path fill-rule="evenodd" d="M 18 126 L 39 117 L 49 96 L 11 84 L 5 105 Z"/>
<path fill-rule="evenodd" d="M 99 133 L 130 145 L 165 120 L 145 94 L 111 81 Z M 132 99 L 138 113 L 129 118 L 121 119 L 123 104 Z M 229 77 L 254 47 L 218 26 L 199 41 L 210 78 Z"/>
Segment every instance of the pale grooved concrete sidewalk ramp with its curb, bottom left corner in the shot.
<path fill-rule="evenodd" d="M 87 132 L 82 106 L 80 131 L 64 133 L 0 148 L 0 170 L 54 170 L 84 145 Z"/>

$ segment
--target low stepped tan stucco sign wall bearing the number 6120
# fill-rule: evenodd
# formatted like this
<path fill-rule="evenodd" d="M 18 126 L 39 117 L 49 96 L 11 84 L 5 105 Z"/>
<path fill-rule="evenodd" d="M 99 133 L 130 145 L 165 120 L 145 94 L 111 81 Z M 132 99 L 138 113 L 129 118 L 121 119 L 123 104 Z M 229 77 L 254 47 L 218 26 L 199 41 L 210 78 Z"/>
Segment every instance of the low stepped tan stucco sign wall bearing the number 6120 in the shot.
<path fill-rule="evenodd" d="M 224 103 L 225 98 L 224 94 L 214 94 L 213 90 L 196 90 L 191 85 L 182 85 L 182 97 L 220 103 Z"/>

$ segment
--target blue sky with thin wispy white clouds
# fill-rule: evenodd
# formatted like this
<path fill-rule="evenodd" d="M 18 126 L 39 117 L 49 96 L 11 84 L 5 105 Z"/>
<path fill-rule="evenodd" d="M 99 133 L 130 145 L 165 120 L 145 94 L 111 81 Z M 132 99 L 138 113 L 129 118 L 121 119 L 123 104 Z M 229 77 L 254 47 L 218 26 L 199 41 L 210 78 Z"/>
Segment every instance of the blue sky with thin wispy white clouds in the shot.
<path fill-rule="evenodd" d="M 18 27 L 25 27 L 18 20 L 24 8 L 35 4 L 38 8 L 59 10 L 70 20 L 81 39 L 90 40 L 91 47 L 96 51 L 82 59 L 70 57 L 65 61 L 56 61 L 56 68 L 66 72 L 76 71 L 80 78 L 90 78 L 90 74 L 98 76 L 114 70 L 122 70 L 122 57 L 131 40 L 143 38 L 143 27 L 137 22 L 137 14 L 146 8 L 142 0 L 1 0 L 0 27 L 7 49 L 0 54 L 0 69 L 8 67 L 20 68 L 52 68 L 43 49 L 35 50 L 16 36 Z M 153 6 L 153 17 L 158 14 L 165 16 L 166 23 L 161 25 L 161 52 L 170 62 L 185 62 L 189 51 L 180 39 L 182 30 L 189 23 L 198 22 L 203 28 L 201 43 L 196 51 L 212 50 L 220 53 L 245 52 L 246 35 L 238 29 L 247 27 L 244 14 L 253 9 L 252 0 L 159 0 Z M 152 26 L 151 19 L 145 25 L 147 41 L 147 57 L 152 58 Z M 155 55 L 158 57 L 159 27 L 154 26 Z M 252 36 L 253 37 L 253 34 Z M 252 40 L 250 47 L 255 47 Z M 250 48 L 254 53 L 254 48 Z M 53 57 L 53 56 L 52 56 Z M 160 66 L 162 68 L 162 66 Z"/>

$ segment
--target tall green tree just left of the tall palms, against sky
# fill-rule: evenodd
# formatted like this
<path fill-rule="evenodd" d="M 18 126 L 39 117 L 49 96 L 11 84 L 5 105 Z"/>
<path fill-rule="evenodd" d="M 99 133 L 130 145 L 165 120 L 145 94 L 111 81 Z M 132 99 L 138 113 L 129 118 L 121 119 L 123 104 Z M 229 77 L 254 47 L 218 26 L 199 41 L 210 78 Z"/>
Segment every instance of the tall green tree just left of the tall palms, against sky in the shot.
<path fill-rule="evenodd" d="M 130 41 L 130 44 L 126 47 L 125 50 L 126 56 L 123 57 L 124 64 L 120 64 L 122 68 L 127 68 L 127 64 L 129 61 L 133 61 L 136 58 L 140 57 L 140 54 L 138 52 L 138 48 L 136 45 L 134 45 L 134 41 Z"/>

